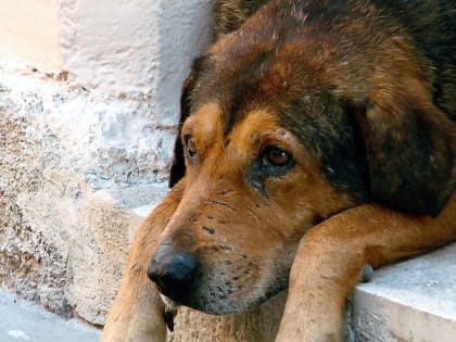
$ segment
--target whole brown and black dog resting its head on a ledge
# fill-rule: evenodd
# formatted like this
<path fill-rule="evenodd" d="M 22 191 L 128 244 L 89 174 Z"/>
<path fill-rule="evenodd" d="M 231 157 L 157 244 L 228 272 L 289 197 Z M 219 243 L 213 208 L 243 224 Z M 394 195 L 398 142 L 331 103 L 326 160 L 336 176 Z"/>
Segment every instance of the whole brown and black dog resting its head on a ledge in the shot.
<path fill-rule="evenodd" d="M 340 341 L 366 264 L 455 241 L 455 11 L 219 1 L 174 187 L 138 229 L 104 341 L 165 340 L 156 288 L 216 315 L 289 288 L 277 341 Z"/>

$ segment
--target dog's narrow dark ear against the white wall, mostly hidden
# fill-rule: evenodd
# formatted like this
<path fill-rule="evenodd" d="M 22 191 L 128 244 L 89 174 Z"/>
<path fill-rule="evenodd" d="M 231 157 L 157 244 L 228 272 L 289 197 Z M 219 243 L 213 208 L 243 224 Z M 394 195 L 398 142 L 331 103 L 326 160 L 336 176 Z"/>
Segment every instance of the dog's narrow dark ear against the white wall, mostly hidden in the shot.
<path fill-rule="evenodd" d="M 202 71 L 203 61 L 205 58 L 200 56 L 192 63 L 190 75 L 186 78 L 180 93 L 180 118 L 178 123 L 178 134 L 174 143 L 174 157 L 169 173 L 169 188 L 173 188 L 186 174 L 186 160 L 183 155 L 182 141 L 180 139 L 180 131 L 187 117 L 190 116 L 193 90 L 198 83 L 198 78 Z"/>

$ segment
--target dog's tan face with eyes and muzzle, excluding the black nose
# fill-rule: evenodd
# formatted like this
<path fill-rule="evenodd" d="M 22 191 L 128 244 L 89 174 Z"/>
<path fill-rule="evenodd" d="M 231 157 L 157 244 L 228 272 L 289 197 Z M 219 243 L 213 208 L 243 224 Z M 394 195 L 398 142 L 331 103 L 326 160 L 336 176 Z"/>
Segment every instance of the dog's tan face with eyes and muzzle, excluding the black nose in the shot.
<path fill-rule="evenodd" d="M 227 118 L 205 103 L 183 124 L 182 200 L 155 256 L 191 253 L 191 287 L 162 291 L 215 314 L 244 311 L 286 289 L 306 229 L 354 203 L 320 176 L 316 157 L 273 110 L 245 113 L 229 134 Z"/>

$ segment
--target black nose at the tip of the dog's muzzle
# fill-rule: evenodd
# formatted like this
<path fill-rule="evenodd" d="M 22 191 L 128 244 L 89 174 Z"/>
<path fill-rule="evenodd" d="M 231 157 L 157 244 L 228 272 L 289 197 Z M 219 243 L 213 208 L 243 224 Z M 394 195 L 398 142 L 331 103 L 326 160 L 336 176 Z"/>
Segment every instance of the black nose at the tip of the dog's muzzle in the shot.
<path fill-rule="evenodd" d="M 189 252 L 163 252 L 163 249 L 159 249 L 159 253 L 152 258 L 148 277 L 156 283 L 160 292 L 179 301 L 179 297 L 188 294 L 193 283 L 197 257 Z"/>

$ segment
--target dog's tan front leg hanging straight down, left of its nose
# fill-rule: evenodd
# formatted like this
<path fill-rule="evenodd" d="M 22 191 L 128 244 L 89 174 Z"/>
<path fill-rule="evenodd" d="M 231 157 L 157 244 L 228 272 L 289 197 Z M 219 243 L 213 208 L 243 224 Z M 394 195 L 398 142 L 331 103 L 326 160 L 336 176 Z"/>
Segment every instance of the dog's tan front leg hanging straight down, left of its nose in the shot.
<path fill-rule="evenodd" d="M 163 302 L 147 276 L 160 232 L 176 211 L 183 185 L 178 183 L 138 227 L 128 266 L 104 326 L 102 342 L 163 342 L 166 326 Z"/>

